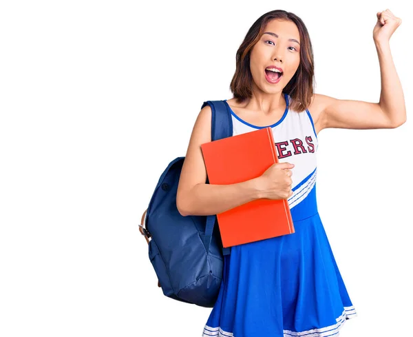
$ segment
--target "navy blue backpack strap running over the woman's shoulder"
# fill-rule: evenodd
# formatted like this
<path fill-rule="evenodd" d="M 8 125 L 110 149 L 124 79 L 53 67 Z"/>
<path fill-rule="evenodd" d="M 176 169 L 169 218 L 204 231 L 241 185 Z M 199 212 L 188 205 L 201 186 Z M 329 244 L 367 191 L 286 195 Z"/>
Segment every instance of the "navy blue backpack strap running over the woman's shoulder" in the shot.
<path fill-rule="evenodd" d="M 211 118 L 211 141 L 218 141 L 233 135 L 233 123 L 231 117 L 231 111 L 228 105 L 224 101 L 206 101 L 202 104 L 204 106 L 209 105 L 212 110 Z M 209 179 L 207 178 L 207 183 Z M 209 246 L 211 245 L 211 238 L 213 233 L 213 227 L 215 225 L 216 215 L 207 216 L 207 225 L 205 227 L 205 248 L 209 252 Z M 222 247 L 222 254 L 228 255 L 231 253 L 231 247 Z"/>

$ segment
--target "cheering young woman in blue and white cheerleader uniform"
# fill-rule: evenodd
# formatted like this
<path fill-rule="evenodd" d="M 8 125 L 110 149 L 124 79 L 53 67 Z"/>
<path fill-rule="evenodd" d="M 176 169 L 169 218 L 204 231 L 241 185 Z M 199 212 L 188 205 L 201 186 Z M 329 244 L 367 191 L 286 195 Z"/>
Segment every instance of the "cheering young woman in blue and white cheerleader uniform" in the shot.
<path fill-rule="evenodd" d="M 252 25 L 231 81 L 233 135 L 271 126 L 279 163 L 262 176 L 209 185 L 200 145 L 211 141 L 211 108 L 198 115 L 178 185 L 182 215 L 224 212 L 257 198 L 288 198 L 295 233 L 233 246 L 224 256 L 218 300 L 202 336 L 338 336 L 356 316 L 317 212 L 317 134 L 328 127 L 394 128 L 406 120 L 389 39 L 401 19 L 377 13 L 379 103 L 313 93 L 313 50 L 304 23 L 284 10 Z M 253 226 L 253 224 L 251 224 Z"/>

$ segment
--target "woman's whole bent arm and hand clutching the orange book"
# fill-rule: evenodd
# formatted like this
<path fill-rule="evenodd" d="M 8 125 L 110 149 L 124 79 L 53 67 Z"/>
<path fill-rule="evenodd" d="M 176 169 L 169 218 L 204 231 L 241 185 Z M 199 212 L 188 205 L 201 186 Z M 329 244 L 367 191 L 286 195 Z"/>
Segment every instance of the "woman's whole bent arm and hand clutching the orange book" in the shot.
<path fill-rule="evenodd" d="M 206 105 L 198 114 L 193 126 L 176 194 L 176 206 L 180 214 L 182 216 L 213 215 L 258 198 L 290 196 L 290 190 L 286 188 L 291 181 L 290 174 L 286 175 L 282 172 L 282 179 L 275 179 L 277 181 L 271 183 L 274 180 L 271 177 L 277 174 L 279 176 L 280 169 L 290 168 L 288 163 L 275 164 L 280 165 L 279 169 L 271 167 L 262 176 L 242 183 L 230 185 L 206 183 L 207 169 L 200 145 L 211 141 L 211 114 L 211 107 Z"/>

